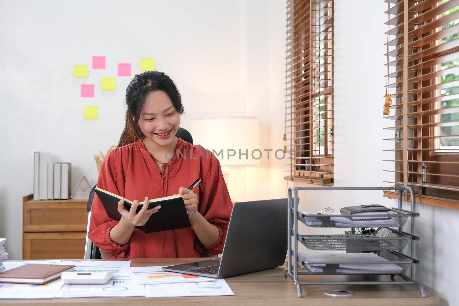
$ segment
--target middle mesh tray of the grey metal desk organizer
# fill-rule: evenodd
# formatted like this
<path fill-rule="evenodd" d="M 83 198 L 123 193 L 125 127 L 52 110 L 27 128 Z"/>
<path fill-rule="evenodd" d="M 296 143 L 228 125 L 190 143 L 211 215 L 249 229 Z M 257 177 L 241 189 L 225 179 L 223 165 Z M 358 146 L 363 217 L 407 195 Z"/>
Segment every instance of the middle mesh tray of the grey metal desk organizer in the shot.
<path fill-rule="evenodd" d="M 403 250 L 416 236 L 391 228 L 378 228 L 372 234 L 300 235 L 298 240 L 310 250 L 377 251 Z"/>

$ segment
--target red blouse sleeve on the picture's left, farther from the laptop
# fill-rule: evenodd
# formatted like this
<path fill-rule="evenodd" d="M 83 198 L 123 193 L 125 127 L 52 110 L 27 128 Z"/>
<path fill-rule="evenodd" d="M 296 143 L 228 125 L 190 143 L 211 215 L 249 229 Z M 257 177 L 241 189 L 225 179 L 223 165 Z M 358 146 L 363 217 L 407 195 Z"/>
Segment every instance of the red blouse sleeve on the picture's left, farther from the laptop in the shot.
<path fill-rule="evenodd" d="M 116 186 L 116 170 L 113 167 L 112 153 L 109 153 L 102 162 L 101 172 L 97 179 L 97 187 L 119 195 Z M 129 257 L 130 250 L 129 242 L 121 246 L 110 239 L 110 230 L 117 224 L 118 221 L 107 216 L 99 197 L 94 195 L 88 238 L 101 250 L 108 253 L 109 258 L 127 258 Z"/>

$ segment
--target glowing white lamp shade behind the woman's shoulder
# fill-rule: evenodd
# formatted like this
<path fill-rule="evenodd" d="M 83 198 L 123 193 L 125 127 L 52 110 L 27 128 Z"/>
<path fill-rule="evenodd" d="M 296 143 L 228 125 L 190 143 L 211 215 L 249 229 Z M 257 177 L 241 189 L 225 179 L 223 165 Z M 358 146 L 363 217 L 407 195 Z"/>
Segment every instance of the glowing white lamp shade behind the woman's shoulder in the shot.
<path fill-rule="evenodd" d="M 191 120 L 190 134 L 195 145 L 202 145 L 204 149 L 214 152 L 222 167 L 246 167 L 260 164 L 259 157 L 263 154 L 263 150 L 259 148 L 257 117 Z M 223 150 L 223 155 L 218 154 L 221 150 Z M 261 150 L 262 153 L 257 150 Z M 233 154 L 235 156 L 230 156 Z"/>

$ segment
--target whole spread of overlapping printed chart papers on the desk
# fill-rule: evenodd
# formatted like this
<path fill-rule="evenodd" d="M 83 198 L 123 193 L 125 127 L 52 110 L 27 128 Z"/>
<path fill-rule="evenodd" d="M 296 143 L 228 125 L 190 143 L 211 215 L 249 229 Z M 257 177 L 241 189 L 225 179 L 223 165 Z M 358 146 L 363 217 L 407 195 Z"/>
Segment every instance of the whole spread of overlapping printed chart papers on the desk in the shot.
<path fill-rule="evenodd" d="M 222 278 L 171 273 L 158 267 L 130 267 L 130 261 L 8 261 L 7 270 L 29 263 L 74 265 L 78 272 L 115 272 L 106 284 L 0 284 L 0 299 L 51 299 L 95 296 L 214 296 L 234 295 Z"/>

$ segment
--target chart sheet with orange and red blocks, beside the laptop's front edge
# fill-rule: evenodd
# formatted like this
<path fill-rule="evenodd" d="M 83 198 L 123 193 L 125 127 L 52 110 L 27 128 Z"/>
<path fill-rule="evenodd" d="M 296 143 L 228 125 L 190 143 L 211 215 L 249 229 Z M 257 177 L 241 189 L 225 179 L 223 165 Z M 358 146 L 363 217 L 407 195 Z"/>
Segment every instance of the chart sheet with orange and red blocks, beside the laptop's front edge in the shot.
<path fill-rule="evenodd" d="M 215 280 L 215 278 L 210 277 L 163 271 L 162 267 L 167 266 L 123 267 L 123 270 L 132 278 L 134 283 L 143 285 L 196 283 Z"/>

